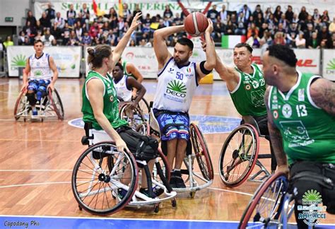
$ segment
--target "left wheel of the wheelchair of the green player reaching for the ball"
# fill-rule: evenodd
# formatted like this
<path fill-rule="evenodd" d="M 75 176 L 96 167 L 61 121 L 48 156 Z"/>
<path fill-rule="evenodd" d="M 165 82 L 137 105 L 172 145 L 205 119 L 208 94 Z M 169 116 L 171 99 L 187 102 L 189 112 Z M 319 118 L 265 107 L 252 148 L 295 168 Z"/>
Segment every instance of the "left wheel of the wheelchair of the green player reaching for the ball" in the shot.
<path fill-rule="evenodd" d="M 247 180 L 257 161 L 259 136 L 249 124 L 234 129 L 223 144 L 219 172 L 223 183 L 237 187 Z"/>

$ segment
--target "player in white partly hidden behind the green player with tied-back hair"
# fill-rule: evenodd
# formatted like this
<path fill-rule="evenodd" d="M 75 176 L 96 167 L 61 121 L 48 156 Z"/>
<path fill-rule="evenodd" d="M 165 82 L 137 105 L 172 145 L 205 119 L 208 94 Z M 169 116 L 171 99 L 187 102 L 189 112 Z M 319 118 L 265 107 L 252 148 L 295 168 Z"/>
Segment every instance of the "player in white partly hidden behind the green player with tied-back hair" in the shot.
<path fill-rule="evenodd" d="M 146 93 L 146 88 L 136 79 L 129 77 L 124 74 L 124 68 L 122 64 L 117 62 L 112 70 L 114 87 L 117 90 L 117 98 L 120 102 L 131 102 L 131 90 L 136 88 L 138 96 L 131 102 L 131 109 L 135 109 L 139 105 L 139 101 L 143 98 Z"/>

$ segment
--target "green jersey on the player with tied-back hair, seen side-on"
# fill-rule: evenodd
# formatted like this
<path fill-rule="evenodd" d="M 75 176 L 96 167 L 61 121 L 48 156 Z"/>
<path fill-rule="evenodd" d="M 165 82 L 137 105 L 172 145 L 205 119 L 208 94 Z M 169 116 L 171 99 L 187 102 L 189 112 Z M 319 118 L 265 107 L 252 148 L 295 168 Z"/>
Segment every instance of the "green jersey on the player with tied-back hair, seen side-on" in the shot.
<path fill-rule="evenodd" d="M 81 107 L 81 112 L 83 112 L 83 121 L 92 122 L 93 128 L 101 130 L 100 124 L 94 117 L 92 106 L 90 105 L 90 100 L 88 100 L 88 95 L 86 93 L 86 83 L 90 81 L 91 78 L 99 78 L 105 86 L 105 91 L 103 95 L 103 113 L 110 121 L 112 127 L 118 128 L 127 125 L 127 121 L 119 118 L 119 108 L 117 102 L 117 91 L 114 88 L 112 77 L 107 74 L 107 78 L 98 74 L 95 71 L 89 71 L 86 81 L 83 86 L 83 107 Z"/>

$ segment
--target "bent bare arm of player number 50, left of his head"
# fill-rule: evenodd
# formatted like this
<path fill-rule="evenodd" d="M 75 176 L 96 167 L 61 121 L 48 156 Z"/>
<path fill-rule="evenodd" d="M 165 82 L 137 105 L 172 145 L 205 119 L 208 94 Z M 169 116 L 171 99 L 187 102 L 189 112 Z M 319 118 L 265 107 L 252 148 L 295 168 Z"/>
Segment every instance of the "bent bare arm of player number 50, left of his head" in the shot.
<path fill-rule="evenodd" d="M 168 59 L 172 57 L 167 50 L 165 39 L 174 33 L 180 33 L 182 31 L 184 31 L 184 25 L 175 25 L 155 30 L 153 33 L 153 49 L 155 50 L 158 61 L 158 69 L 162 69 Z"/>

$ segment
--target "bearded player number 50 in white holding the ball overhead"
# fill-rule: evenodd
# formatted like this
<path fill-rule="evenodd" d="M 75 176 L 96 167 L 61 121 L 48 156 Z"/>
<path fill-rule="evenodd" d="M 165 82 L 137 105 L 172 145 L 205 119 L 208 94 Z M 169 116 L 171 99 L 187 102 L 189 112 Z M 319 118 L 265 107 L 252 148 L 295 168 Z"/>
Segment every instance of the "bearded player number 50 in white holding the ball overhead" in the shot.
<path fill-rule="evenodd" d="M 170 184 L 175 188 L 184 188 L 180 168 L 189 141 L 189 107 L 192 96 L 201 78 L 209 74 L 216 65 L 216 53 L 211 40 L 213 23 L 208 19 L 205 32 L 207 43 L 206 61 L 190 62 L 193 42 L 186 37 L 177 40 L 172 54 L 168 52 L 165 39 L 184 32 L 184 25 L 170 26 L 155 30 L 153 48 L 158 60 L 158 86 L 153 102 L 153 112 L 160 125 L 162 144 L 166 143 L 167 160 L 173 168 Z M 175 165 L 173 163 L 175 161 Z"/>

